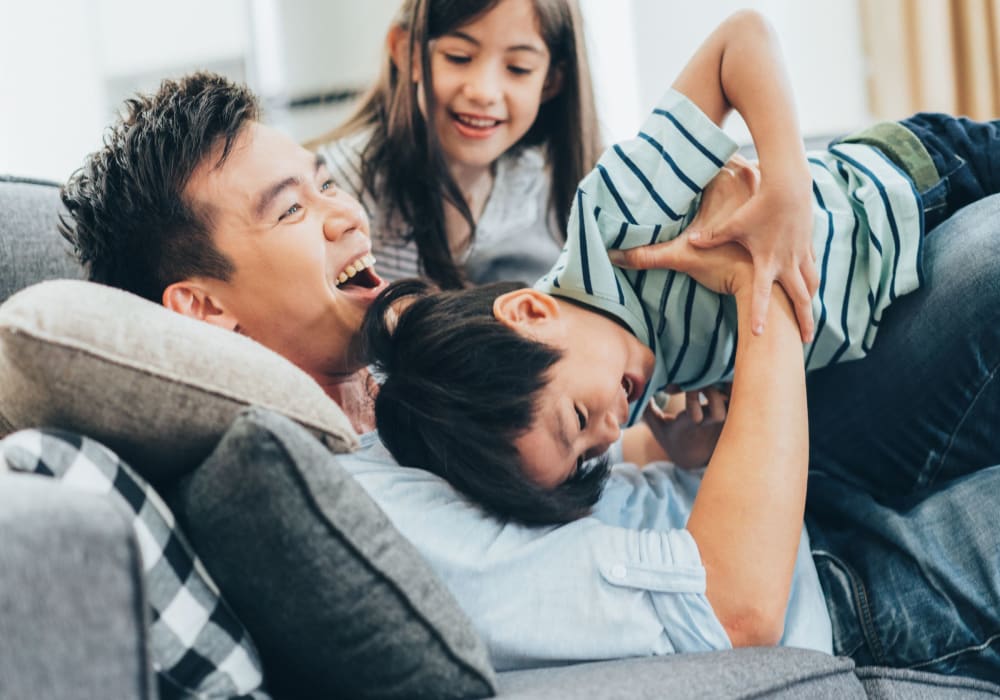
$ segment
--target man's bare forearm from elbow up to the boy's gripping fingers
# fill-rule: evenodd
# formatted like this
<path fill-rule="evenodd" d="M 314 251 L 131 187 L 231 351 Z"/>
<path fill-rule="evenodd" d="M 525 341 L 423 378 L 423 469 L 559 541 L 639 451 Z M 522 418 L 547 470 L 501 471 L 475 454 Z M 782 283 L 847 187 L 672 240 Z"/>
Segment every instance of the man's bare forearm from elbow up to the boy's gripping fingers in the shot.
<path fill-rule="evenodd" d="M 768 330 L 750 332 L 737 295 L 739 340 L 729 416 L 688 530 L 710 602 L 735 646 L 780 638 L 805 508 L 805 371 L 791 305 L 775 287 Z"/>

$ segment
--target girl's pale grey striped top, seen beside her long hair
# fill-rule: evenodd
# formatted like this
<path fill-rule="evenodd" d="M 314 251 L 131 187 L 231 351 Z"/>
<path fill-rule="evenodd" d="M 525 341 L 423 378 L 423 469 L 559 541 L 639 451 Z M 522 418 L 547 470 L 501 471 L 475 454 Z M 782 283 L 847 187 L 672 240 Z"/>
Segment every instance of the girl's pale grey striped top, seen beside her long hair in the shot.
<path fill-rule="evenodd" d="M 364 188 L 361 153 L 367 134 L 320 147 L 338 187 L 364 206 L 372 223 L 372 254 L 378 273 L 390 282 L 422 277 L 412 227 L 391 207 L 380 206 Z M 534 282 L 544 275 L 562 247 L 560 226 L 549 207 L 550 176 L 540 148 L 507 152 L 496 162 L 493 189 L 476 223 L 476 235 L 457 262 L 473 284 L 496 280 Z"/>

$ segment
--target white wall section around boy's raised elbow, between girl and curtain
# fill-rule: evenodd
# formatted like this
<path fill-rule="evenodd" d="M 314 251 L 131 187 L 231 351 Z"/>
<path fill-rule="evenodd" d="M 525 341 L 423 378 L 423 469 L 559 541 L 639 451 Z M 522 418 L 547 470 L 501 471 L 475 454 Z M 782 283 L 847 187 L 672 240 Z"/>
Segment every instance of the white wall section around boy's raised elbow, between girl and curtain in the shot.
<path fill-rule="evenodd" d="M 581 0 L 606 139 L 631 135 L 687 59 L 726 16 L 751 7 L 779 36 L 806 136 L 868 121 L 856 0 Z M 727 124 L 749 141 L 741 120 Z"/>

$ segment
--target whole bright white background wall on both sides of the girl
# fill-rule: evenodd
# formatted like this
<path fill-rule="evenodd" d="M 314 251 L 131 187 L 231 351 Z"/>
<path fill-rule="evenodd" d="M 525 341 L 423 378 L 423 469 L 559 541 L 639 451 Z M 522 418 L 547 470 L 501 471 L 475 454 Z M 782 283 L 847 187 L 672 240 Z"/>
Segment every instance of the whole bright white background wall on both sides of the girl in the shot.
<path fill-rule="evenodd" d="M 398 0 L 0 0 L 0 173 L 62 180 L 128 92 L 198 67 L 275 100 L 359 88 Z M 867 121 L 857 0 L 581 0 L 606 140 L 632 134 L 699 42 L 740 6 L 775 25 L 803 130 Z M 259 59 L 259 60 L 258 60 Z M 293 137 L 343 106 L 276 114 Z M 727 127 L 738 140 L 740 125 Z"/>

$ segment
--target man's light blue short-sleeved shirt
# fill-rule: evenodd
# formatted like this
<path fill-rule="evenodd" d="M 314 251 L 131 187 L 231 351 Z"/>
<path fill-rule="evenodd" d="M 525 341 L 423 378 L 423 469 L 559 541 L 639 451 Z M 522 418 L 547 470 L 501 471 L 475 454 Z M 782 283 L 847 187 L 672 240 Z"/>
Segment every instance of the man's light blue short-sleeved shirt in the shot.
<path fill-rule="evenodd" d="M 396 465 L 375 433 L 337 460 L 458 599 L 497 670 L 731 647 L 683 529 L 699 474 L 617 465 L 593 516 L 526 527 Z M 804 530 L 783 643 L 832 648 Z"/>

